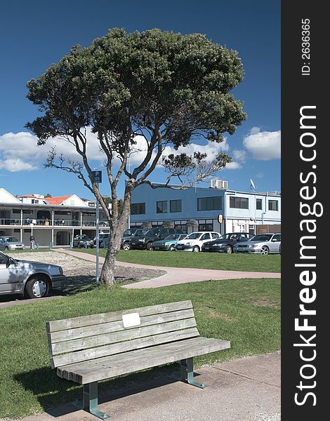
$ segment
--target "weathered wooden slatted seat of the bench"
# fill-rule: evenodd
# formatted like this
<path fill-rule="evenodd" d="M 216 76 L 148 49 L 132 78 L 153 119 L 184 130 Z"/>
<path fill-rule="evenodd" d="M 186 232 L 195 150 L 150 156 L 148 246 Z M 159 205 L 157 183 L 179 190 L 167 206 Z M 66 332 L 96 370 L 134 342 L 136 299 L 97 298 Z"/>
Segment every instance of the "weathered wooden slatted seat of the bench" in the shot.
<path fill-rule="evenodd" d="M 57 371 L 60 377 L 86 384 L 227 348 L 227 340 L 198 337 L 62 366 Z"/>

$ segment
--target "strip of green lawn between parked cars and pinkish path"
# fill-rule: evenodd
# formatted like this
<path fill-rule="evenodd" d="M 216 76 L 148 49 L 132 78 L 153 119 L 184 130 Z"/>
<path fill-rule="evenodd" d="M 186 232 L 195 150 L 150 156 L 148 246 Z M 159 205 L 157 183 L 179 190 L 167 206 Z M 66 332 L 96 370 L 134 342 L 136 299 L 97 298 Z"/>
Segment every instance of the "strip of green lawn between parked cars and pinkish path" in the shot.
<path fill-rule="evenodd" d="M 74 249 L 76 250 L 76 249 Z M 95 249 L 77 249 L 95 254 Z M 105 250 L 100 249 L 105 256 Z M 246 255 L 227 253 L 187 253 L 179 251 L 120 250 L 117 260 L 140 265 L 194 267 L 199 269 L 281 272 L 281 255 Z"/>

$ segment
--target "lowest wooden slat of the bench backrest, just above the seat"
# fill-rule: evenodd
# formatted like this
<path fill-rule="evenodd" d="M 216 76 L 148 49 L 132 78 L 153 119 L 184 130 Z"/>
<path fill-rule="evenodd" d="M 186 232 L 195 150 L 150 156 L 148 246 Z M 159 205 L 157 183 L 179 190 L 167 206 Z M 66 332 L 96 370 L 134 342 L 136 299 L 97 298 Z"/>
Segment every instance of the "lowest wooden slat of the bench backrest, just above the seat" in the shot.
<path fill-rule="evenodd" d="M 122 352 L 132 351 L 133 349 L 141 349 L 154 345 L 173 342 L 173 340 L 183 340 L 199 336 L 197 328 L 189 328 L 185 330 L 176 330 L 175 332 L 166 332 L 159 335 L 147 336 L 128 340 L 126 342 L 117 342 L 114 345 L 105 345 L 103 347 L 86 349 L 84 351 L 72 352 L 70 354 L 60 354 L 53 356 L 51 359 L 51 368 L 59 366 L 67 366 L 72 363 L 98 359 L 102 356 L 110 356 Z"/>

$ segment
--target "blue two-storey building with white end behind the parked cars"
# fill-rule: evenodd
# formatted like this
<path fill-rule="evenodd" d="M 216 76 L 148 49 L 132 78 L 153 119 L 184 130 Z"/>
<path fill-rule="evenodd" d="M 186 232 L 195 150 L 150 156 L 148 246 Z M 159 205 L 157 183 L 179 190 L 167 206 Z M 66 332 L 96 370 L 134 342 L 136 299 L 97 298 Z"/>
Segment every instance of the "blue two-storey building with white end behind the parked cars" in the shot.
<path fill-rule="evenodd" d="M 280 231 L 281 196 L 277 192 L 236 192 L 221 180 L 211 180 L 210 186 L 216 187 L 175 190 L 140 185 L 132 194 L 129 225 L 175 227 L 188 234 Z"/>

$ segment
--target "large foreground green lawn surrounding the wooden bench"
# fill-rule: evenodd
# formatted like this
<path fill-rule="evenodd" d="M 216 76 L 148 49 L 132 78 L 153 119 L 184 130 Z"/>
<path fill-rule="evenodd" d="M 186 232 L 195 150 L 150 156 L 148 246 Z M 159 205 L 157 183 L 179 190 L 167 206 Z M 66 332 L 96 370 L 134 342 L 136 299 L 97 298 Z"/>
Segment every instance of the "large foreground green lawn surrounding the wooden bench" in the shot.
<path fill-rule="evenodd" d="M 230 340 L 232 345 L 198 357 L 195 366 L 280 348 L 279 279 L 205 281 L 143 290 L 99 287 L 66 298 L 1 309 L 0 417 L 40 413 L 81 396 L 81 387 L 60 379 L 50 368 L 46 321 L 187 299 L 194 305 L 201 335 Z M 178 364 L 171 364 L 151 373 L 102 382 L 100 390 L 143 380 L 159 370 L 164 375 L 176 373 L 179 378 Z"/>

